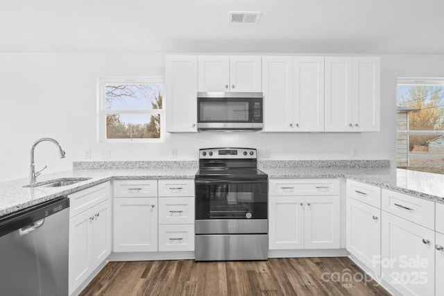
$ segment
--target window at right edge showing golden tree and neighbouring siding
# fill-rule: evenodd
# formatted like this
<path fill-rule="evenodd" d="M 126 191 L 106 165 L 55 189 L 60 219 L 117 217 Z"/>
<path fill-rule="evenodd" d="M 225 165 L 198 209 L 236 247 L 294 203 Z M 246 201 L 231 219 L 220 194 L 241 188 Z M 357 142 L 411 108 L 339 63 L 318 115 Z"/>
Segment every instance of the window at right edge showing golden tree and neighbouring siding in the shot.
<path fill-rule="evenodd" d="M 444 78 L 398 78 L 397 166 L 444 173 Z"/>

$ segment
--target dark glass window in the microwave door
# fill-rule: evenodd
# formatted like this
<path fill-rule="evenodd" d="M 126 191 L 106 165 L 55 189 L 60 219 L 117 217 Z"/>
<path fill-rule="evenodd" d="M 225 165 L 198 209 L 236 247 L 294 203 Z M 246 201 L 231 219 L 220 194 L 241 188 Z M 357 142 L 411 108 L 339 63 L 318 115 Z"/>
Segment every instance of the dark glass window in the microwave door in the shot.
<path fill-rule="evenodd" d="M 200 101 L 200 122 L 248 122 L 249 103 L 246 101 Z"/>

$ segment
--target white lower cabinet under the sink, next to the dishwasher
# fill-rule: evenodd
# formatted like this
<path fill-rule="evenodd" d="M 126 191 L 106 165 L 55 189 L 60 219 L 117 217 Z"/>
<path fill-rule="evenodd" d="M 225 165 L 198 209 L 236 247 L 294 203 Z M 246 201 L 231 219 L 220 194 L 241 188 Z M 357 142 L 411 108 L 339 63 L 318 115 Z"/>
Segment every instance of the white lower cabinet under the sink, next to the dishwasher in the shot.
<path fill-rule="evenodd" d="M 109 186 L 107 182 L 69 195 L 70 200 L 81 196 L 89 203 L 80 214 L 70 208 L 75 216 L 69 220 L 69 295 L 111 254 Z"/>

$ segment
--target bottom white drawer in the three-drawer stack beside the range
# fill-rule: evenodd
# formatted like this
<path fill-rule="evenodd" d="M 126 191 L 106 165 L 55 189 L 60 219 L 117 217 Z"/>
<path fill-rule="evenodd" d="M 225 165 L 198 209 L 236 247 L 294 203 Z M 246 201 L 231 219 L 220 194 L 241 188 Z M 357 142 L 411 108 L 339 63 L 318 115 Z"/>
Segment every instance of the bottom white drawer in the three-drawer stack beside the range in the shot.
<path fill-rule="evenodd" d="M 159 251 L 194 251 L 194 225 L 159 225 Z"/>

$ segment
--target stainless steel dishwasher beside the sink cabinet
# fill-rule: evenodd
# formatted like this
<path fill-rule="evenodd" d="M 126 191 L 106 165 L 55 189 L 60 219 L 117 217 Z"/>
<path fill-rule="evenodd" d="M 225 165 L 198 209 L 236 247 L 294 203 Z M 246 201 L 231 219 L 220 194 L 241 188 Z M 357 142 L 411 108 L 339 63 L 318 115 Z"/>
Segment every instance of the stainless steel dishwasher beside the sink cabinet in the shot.
<path fill-rule="evenodd" d="M 69 199 L 0 218 L 0 294 L 68 295 Z"/>

